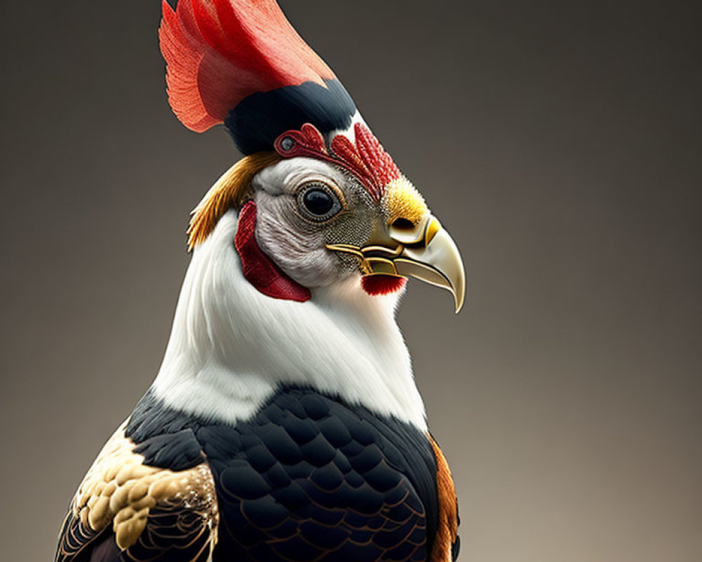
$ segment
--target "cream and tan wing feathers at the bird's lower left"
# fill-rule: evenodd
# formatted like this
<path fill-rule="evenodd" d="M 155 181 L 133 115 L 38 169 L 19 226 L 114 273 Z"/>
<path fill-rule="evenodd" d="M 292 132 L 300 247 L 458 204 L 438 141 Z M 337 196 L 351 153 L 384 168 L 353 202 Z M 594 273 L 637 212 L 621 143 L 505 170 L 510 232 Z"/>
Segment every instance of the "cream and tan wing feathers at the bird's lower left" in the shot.
<path fill-rule="evenodd" d="M 102 448 L 71 502 L 56 562 L 83 560 L 107 539 L 125 560 L 152 560 L 168 549 L 192 551 L 193 561 L 209 556 L 218 509 L 208 464 L 159 469 L 143 464 L 134 447 L 122 425 Z"/>

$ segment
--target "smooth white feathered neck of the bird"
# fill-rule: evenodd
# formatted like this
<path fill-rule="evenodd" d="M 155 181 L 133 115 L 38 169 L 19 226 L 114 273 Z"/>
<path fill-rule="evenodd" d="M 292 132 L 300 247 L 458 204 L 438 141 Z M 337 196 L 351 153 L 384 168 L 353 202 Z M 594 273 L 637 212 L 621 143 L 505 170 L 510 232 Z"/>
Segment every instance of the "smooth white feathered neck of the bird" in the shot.
<path fill-rule="evenodd" d="M 154 393 L 178 410 L 236 423 L 282 385 L 298 385 L 425 430 L 424 405 L 395 322 L 397 296 L 358 279 L 272 299 L 241 274 L 230 211 L 192 256 Z"/>

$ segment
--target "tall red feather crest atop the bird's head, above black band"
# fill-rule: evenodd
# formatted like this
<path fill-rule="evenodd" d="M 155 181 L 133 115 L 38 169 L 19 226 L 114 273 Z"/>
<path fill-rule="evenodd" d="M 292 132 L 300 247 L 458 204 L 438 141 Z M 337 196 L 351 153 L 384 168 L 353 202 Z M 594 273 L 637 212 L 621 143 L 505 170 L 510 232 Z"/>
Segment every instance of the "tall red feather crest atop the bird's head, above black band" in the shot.
<path fill-rule="evenodd" d="M 286 20 L 274 0 L 164 0 L 159 28 L 168 103 L 201 133 L 252 93 L 334 73 Z"/>

